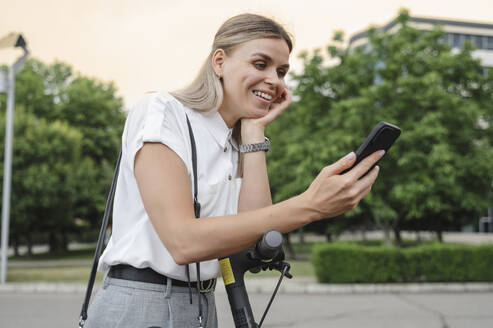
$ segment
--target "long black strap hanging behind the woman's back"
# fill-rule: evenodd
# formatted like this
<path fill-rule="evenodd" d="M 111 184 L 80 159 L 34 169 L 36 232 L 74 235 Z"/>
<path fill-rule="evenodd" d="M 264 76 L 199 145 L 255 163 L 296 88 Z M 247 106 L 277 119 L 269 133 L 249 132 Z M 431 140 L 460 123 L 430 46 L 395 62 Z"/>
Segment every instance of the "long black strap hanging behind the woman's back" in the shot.
<path fill-rule="evenodd" d="M 84 323 L 87 319 L 87 307 L 89 306 L 89 299 L 92 294 L 92 287 L 94 286 L 94 279 L 96 278 L 96 270 L 99 263 L 99 257 L 101 256 L 101 251 L 103 250 L 103 241 L 106 234 L 106 229 L 108 228 L 109 217 L 111 212 L 111 205 L 113 204 L 113 198 L 115 197 L 116 181 L 118 180 L 118 172 L 120 171 L 120 162 L 122 159 L 122 151 L 118 155 L 118 160 L 116 161 L 115 173 L 113 174 L 113 181 L 111 182 L 110 193 L 108 199 L 106 200 L 106 207 L 104 209 L 103 224 L 101 225 L 101 230 L 99 231 L 98 244 L 96 246 L 96 252 L 94 253 L 94 260 L 92 261 L 91 275 L 89 276 L 89 282 L 87 284 L 86 297 L 84 298 L 84 303 L 82 304 L 82 310 L 80 311 L 79 327 L 84 327 Z"/>

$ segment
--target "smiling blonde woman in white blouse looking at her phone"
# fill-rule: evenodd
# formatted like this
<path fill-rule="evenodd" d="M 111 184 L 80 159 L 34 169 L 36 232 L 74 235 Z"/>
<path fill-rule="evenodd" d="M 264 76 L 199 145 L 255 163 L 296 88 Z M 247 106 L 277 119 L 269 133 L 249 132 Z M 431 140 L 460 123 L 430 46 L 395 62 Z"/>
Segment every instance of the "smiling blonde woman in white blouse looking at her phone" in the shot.
<path fill-rule="evenodd" d="M 291 102 L 284 81 L 291 50 L 276 22 L 235 16 L 220 27 L 190 86 L 148 95 L 130 112 L 113 235 L 99 267 L 109 273 L 86 327 L 217 327 L 217 258 L 253 245 L 270 229 L 284 233 L 349 211 L 370 191 L 378 167 L 359 178 L 383 154 L 339 175 L 354 162 L 350 153 L 325 167 L 304 193 L 272 205 L 264 130 Z M 199 220 L 187 118 L 197 148 Z M 196 292 L 196 266 L 189 266 L 200 315 L 186 283 L 187 264 L 194 262 L 201 262 L 206 281 Z"/>

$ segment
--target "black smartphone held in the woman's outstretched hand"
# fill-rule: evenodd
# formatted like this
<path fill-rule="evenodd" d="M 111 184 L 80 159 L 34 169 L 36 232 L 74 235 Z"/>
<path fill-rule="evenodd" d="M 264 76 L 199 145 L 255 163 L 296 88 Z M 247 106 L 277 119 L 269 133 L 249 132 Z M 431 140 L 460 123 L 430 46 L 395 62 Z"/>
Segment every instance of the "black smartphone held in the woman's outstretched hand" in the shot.
<path fill-rule="evenodd" d="M 387 153 L 390 146 L 392 146 L 394 141 L 396 141 L 400 135 L 401 129 L 399 129 L 399 127 L 387 122 L 378 123 L 373 128 L 373 130 L 371 130 L 368 137 L 366 137 L 363 144 L 356 151 L 356 161 L 354 162 L 353 166 L 351 166 L 349 169 L 344 170 L 341 174 L 348 172 L 353 167 L 358 165 L 358 163 L 361 162 L 366 156 L 373 154 L 377 150 L 383 149 L 385 150 L 385 153 Z M 377 163 L 375 163 L 375 165 L 377 165 Z M 361 178 L 364 177 L 368 172 L 370 172 L 375 167 L 375 165 L 373 165 L 365 174 L 363 174 Z"/>

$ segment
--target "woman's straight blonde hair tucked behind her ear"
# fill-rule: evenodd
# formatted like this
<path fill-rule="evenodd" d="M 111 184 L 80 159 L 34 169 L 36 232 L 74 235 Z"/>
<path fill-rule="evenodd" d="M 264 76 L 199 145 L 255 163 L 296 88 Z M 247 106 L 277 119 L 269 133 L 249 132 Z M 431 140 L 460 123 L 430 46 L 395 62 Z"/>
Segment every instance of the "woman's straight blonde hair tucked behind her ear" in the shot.
<path fill-rule="evenodd" d="M 225 21 L 217 31 L 211 52 L 202 65 L 197 77 L 183 89 L 170 92 L 185 106 L 197 111 L 214 112 L 223 101 L 221 79 L 212 67 L 212 56 L 217 49 L 226 54 L 235 46 L 261 38 L 283 39 L 289 52 L 293 48 L 290 35 L 277 22 L 255 14 L 241 14 Z"/>

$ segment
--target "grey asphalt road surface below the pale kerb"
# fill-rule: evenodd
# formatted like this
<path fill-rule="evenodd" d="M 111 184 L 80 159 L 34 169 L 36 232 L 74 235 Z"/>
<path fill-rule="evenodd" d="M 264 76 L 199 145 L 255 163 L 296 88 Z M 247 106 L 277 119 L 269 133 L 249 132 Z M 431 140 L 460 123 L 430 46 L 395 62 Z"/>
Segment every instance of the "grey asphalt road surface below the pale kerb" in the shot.
<path fill-rule="evenodd" d="M 269 295 L 251 294 L 257 320 Z M 75 327 L 83 294 L 0 293 L 0 327 Z M 233 327 L 226 294 L 220 327 Z M 491 328 L 493 293 L 280 295 L 262 327 Z M 180 327 L 181 328 L 181 327 Z"/>

